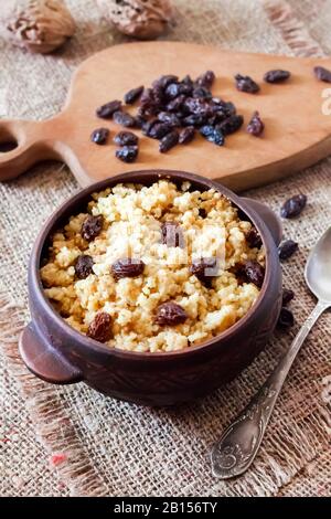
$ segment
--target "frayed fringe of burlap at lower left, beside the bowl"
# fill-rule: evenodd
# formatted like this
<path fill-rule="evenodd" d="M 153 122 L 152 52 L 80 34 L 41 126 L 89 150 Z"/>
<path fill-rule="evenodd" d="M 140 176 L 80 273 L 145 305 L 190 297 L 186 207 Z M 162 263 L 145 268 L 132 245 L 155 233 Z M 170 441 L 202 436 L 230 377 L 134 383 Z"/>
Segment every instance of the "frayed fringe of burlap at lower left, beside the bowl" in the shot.
<path fill-rule="evenodd" d="M 82 442 L 54 386 L 34 377 L 22 363 L 18 339 L 23 328 L 22 308 L 0 293 L 1 348 L 8 359 L 10 374 L 15 378 L 25 399 L 36 434 L 50 454 L 64 454 L 65 459 L 57 470 L 73 496 L 104 496 L 106 486 L 82 448 Z"/>

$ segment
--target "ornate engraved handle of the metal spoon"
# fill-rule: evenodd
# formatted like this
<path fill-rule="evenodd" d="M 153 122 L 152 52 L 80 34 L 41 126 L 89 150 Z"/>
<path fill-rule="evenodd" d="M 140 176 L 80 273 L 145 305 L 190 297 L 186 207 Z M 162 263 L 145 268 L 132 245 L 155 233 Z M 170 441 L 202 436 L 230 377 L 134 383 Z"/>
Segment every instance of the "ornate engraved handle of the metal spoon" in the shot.
<path fill-rule="evenodd" d="M 269 379 L 215 443 L 211 453 L 214 476 L 222 479 L 239 476 L 253 463 L 292 362 L 312 326 L 329 306 L 318 303 Z"/>

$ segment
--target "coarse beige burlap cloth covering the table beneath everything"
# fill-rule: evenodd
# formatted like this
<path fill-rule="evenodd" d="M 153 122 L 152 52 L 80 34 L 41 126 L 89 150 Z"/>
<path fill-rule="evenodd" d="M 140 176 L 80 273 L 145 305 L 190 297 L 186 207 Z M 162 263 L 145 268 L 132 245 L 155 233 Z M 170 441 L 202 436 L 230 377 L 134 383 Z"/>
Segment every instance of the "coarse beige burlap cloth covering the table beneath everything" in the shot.
<path fill-rule="evenodd" d="M 2 0 L 0 10 L 11 3 Z M 44 118 L 62 106 L 75 66 L 121 41 L 93 0 L 67 0 L 78 23 L 53 56 L 31 56 L 0 42 L 0 116 Z M 323 55 L 331 51 L 330 0 L 178 0 L 169 39 L 243 51 Z M 279 114 L 287 117 L 287 114 Z M 79 121 L 77 121 L 79 124 Z M 307 130 L 307 129 L 305 129 Z M 302 269 L 331 220 L 331 161 L 249 195 L 278 211 L 305 192 L 302 218 L 285 222 L 300 250 L 285 266 L 296 292 L 297 326 L 277 335 L 238 379 L 193 404 L 150 410 L 106 399 L 84 384 L 56 388 L 28 373 L 17 336 L 29 319 L 26 264 L 45 218 L 78 187 L 66 167 L 44 165 L 0 186 L 2 307 L 0 336 L 0 495 L 2 496 L 327 496 L 330 494 L 331 315 L 316 325 L 290 373 L 252 469 L 213 479 L 209 449 L 247 403 L 313 307 Z M 51 455 L 66 459 L 56 469 Z"/>

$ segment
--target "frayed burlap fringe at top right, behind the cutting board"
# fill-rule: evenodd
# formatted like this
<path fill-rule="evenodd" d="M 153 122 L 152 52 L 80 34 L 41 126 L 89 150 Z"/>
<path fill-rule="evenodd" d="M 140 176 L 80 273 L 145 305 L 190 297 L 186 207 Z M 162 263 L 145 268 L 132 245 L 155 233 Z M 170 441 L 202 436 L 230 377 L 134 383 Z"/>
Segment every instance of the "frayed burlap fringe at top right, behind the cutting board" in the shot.
<path fill-rule="evenodd" d="M 264 0 L 264 7 L 269 20 L 297 56 L 324 56 L 322 47 L 311 38 L 286 0 Z"/>

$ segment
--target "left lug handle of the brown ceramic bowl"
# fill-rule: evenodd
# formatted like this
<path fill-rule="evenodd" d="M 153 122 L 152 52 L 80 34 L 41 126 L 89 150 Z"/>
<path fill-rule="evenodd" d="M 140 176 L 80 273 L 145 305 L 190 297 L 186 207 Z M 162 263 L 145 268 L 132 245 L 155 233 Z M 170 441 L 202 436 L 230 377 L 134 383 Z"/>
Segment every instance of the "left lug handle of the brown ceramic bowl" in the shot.
<path fill-rule="evenodd" d="M 33 374 L 53 384 L 81 382 L 83 374 L 68 363 L 58 351 L 40 338 L 34 325 L 30 322 L 19 339 L 19 351 Z"/>

